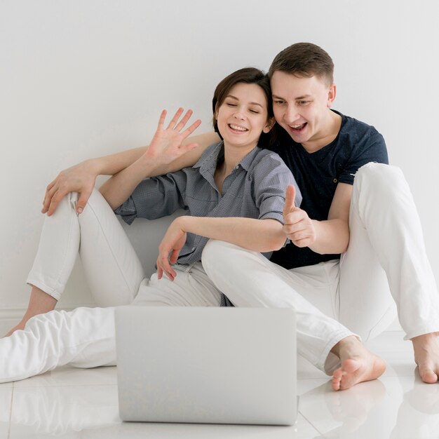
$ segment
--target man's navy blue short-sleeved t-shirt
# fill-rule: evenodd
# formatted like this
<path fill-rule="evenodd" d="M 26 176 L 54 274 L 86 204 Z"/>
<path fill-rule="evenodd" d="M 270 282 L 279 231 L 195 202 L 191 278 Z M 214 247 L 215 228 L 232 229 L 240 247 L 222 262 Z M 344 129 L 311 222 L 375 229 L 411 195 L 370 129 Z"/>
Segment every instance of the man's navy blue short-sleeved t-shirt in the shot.
<path fill-rule="evenodd" d="M 295 176 L 303 197 L 300 208 L 311 219 L 320 221 L 327 219 L 339 182 L 353 184 L 358 168 L 370 161 L 389 163 L 384 137 L 373 126 L 336 113 L 342 116 L 339 134 L 322 149 L 310 154 L 280 126 L 276 127 L 278 141 L 270 147 L 283 158 Z M 273 252 L 271 261 L 292 269 L 339 257 L 319 255 L 307 247 L 299 248 L 290 243 Z"/>

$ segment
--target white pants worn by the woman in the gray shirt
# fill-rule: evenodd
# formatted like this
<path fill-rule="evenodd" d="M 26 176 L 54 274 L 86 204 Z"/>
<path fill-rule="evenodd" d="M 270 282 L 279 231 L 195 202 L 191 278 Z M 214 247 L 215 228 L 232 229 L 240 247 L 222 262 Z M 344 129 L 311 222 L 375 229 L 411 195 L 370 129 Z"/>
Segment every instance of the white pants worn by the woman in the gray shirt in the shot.
<path fill-rule="evenodd" d="M 90 290 L 105 308 L 50 311 L 27 322 L 25 330 L 0 339 L 0 382 L 25 379 L 71 364 L 114 365 L 114 306 L 219 306 L 221 293 L 201 262 L 177 265 L 177 278 L 144 277 L 130 241 L 111 208 L 93 191 L 76 215 L 77 194 L 66 196 L 46 217 L 28 283 L 59 299 L 81 255 Z M 151 249 L 156 251 L 156 249 Z"/>

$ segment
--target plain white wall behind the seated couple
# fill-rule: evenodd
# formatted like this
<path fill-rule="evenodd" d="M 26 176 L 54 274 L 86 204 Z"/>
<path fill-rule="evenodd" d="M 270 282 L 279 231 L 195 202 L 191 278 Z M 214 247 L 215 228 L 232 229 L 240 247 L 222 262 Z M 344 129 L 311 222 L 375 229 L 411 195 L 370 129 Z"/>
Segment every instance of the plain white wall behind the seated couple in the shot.
<path fill-rule="evenodd" d="M 90 156 L 147 144 L 163 107 L 210 129 L 223 76 L 297 41 L 335 61 L 335 109 L 384 134 L 439 278 L 435 0 L 0 1 L 0 320 L 27 304 L 46 184 Z M 92 303 L 75 269 L 60 306 Z M 1 329 L 1 328 L 0 328 Z"/>

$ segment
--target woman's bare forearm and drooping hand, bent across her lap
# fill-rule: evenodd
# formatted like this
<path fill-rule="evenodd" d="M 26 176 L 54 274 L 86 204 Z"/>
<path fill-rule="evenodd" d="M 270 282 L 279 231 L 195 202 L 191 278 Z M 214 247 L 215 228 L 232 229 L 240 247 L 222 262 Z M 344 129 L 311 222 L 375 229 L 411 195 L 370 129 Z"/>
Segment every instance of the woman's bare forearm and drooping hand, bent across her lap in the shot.
<path fill-rule="evenodd" d="M 187 232 L 206 238 L 219 239 L 256 252 L 271 252 L 281 248 L 286 236 L 283 225 L 276 219 L 210 218 L 182 216 L 174 219 L 158 246 L 157 274 L 174 280 L 175 264 L 186 242 Z"/>

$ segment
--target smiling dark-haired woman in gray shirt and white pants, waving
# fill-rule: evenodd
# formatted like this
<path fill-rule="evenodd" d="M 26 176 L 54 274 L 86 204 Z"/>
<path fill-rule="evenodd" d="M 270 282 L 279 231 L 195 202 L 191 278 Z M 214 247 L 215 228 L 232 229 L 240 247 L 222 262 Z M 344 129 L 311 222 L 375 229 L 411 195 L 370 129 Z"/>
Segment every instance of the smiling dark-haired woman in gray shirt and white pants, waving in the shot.
<path fill-rule="evenodd" d="M 94 191 L 78 216 L 76 194 L 69 195 L 46 220 L 28 282 L 50 296 L 48 304 L 62 294 L 79 248 L 97 301 L 219 306 L 222 293 L 201 264 L 208 238 L 259 252 L 284 245 L 285 187 L 295 181 L 277 154 L 257 147 L 259 137 L 273 126 L 268 79 L 257 69 L 238 70 L 219 83 L 212 107 L 222 142 L 212 144 L 194 167 L 144 180 L 149 154 L 166 144 L 181 144 L 199 125 L 197 121 L 181 132 L 190 114 L 179 122 L 179 110 L 164 128 L 166 112 L 162 112 L 151 147 L 108 180 L 101 188 L 102 196 Z M 162 217 L 178 208 L 188 211 L 166 232 L 158 271 L 151 279 L 144 278 L 112 208 L 127 222 L 135 217 Z M 29 319 L 25 330 L 0 339 L 0 382 L 24 379 L 67 363 L 95 367 L 114 362 L 112 307 L 39 314 Z"/>

